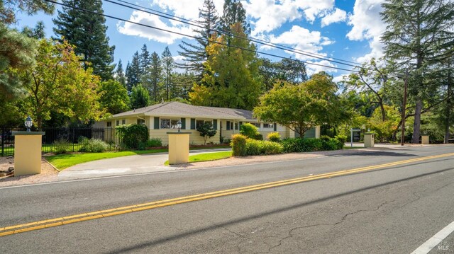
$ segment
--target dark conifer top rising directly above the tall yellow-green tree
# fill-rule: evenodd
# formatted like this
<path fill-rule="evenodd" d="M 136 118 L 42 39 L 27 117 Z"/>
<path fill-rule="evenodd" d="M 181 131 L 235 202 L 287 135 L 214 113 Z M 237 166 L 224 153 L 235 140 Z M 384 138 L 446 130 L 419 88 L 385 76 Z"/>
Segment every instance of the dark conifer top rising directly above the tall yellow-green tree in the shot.
<path fill-rule="evenodd" d="M 219 29 L 226 33 L 232 33 L 231 26 L 236 23 L 240 23 L 245 35 L 250 35 L 250 25 L 246 22 L 246 10 L 243 8 L 241 1 L 225 0 L 223 15 L 219 21 Z"/>

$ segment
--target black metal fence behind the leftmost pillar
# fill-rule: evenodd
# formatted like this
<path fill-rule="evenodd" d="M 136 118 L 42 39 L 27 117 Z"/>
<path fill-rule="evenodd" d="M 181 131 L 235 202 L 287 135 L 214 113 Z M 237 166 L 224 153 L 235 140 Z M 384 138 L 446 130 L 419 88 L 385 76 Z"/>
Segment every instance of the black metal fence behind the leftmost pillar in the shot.
<path fill-rule="evenodd" d="M 14 155 L 13 132 L 24 131 L 18 128 L 0 128 L 0 156 Z M 115 128 L 44 128 L 42 143 L 43 154 L 54 153 L 58 146 L 65 146 L 68 152 L 77 152 L 82 149 L 83 137 L 99 139 L 106 142 L 109 151 L 115 151 L 121 144 L 121 139 L 116 134 Z"/>

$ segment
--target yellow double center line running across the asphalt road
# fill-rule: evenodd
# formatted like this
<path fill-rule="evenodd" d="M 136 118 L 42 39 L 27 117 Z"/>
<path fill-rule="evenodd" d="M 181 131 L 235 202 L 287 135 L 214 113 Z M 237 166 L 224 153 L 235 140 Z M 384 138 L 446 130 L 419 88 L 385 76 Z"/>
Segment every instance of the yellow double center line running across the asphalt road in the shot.
<path fill-rule="evenodd" d="M 430 160 L 433 158 L 443 158 L 443 157 L 448 157 L 448 156 L 454 156 L 454 153 L 441 154 L 441 155 L 436 155 L 436 156 L 426 156 L 426 157 L 420 157 L 420 158 L 412 158 L 409 160 L 396 161 L 396 162 L 392 162 L 392 163 L 384 163 L 384 164 L 380 164 L 380 165 L 376 165 L 376 166 L 353 168 L 353 169 L 349 169 L 349 170 L 336 171 L 336 172 L 331 172 L 331 173 L 323 173 L 323 174 L 319 174 L 319 175 L 309 175 L 309 176 L 304 176 L 301 178 L 279 180 L 279 181 L 270 182 L 270 183 L 262 183 L 259 185 L 249 185 L 249 186 L 245 186 L 245 187 L 238 187 L 238 188 L 233 188 L 233 189 L 228 189 L 228 190 L 218 190 L 215 192 L 206 192 L 206 193 L 201 193 L 201 194 L 197 194 L 197 195 L 177 197 L 177 198 L 172 198 L 169 200 L 158 200 L 155 202 L 148 202 L 148 203 L 143 203 L 143 204 L 133 204 L 128 207 L 118 207 L 118 208 L 114 208 L 114 209 L 107 209 L 107 210 L 101 210 L 101 211 L 96 211 L 96 212 L 87 212 L 84 214 L 75 214 L 75 215 L 71 215 L 71 216 L 67 216 L 67 217 L 60 217 L 60 218 L 55 218 L 55 219 L 34 221 L 34 222 L 26 223 L 26 224 L 5 226 L 5 227 L 0 227 L 0 236 L 8 236 L 8 235 L 11 235 L 14 233 L 33 231 L 33 230 L 38 230 L 38 229 L 46 229 L 46 228 L 50 228 L 53 226 L 62 226 L 65 224 L 72 224 L 72 223 L 76 223 L 79 221 L 88 221 L 91 219 L 111 217 L 111 216 L 115 216 L 115 215 L 119 215 L 119 214 L 128 214 L 131 212 L 155 209 L 157 207 L 168 207 L 168 206 L 171 206 L 174 204 L 182 204 L 182 203 L 187 203 L 187 202 L 206 200 L 206 199 L 210 199 L 210 198 L 214 198 L 214 197 L 223 197 L 223 196 L 234 195 L 234 194 L 243 193 L 243 192 L 251 192 L 254 190 L 263 190 L 263 189 L 267 189 L 267 188 L 271 188 L 271 187 L 278 187 L 278 186 L 282 186 L 282 185 L 291 185 L 294 183 L 303 183 L 303 182 L 307 182 L 307 181 L 311 181 L 311 180 L 332 178 L 332 177 L 341 176 L 341 175 L 350 175 L 353 173 L 372 171 L 372 170 L 375 170 L 378 168 L 387 168 L 387 167 L 402 165 L 402 164 L 406 164 L 406 163 L 414 163 L 417 161 L 426 161 L 426 160 Z"/>

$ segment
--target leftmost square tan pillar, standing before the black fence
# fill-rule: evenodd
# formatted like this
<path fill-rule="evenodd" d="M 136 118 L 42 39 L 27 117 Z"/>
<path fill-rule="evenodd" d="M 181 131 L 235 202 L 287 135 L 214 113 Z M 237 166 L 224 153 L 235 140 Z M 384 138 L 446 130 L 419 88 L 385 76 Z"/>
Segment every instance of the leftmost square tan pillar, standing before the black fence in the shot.
<path fill-rule="evenodd" d="M 45 132 L 13 132 L 14 176 L 41 173 L 41 142 Z"/>

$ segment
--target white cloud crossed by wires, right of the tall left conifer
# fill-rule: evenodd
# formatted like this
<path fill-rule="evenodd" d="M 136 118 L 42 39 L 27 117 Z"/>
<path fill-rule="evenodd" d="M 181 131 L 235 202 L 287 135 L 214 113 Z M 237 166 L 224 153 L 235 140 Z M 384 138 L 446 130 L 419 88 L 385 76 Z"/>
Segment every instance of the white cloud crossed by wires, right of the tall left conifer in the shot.
<path fill-rule="evenodd" d="M 162 28 L 165 30 L 171 30 L 177 33 L 182 33 L 185 35 L 194 35 L 192 28 L 188 26 L 169 26 L 166 23 L 162 22 L 159 17 L 144 13 L 142 11 L 133 11 L 129 21 L 135 23 L 141 23 L 145 25 L 150 25 L 157 28 Z M 175 33 L 168 33 L 162 30 L 157 30 L 154 28 L 148 28 L 143 25 L 135 25 L 128 22 L 118 22 L 117 23 L 118 32 L 123 35 L 135 35 L 139 37 L 145 37 L 148 40 L 155 40 L 157 42 L 172 44 L 175 40 L 182 39 L 183 35 L 176 35 Z"/>

